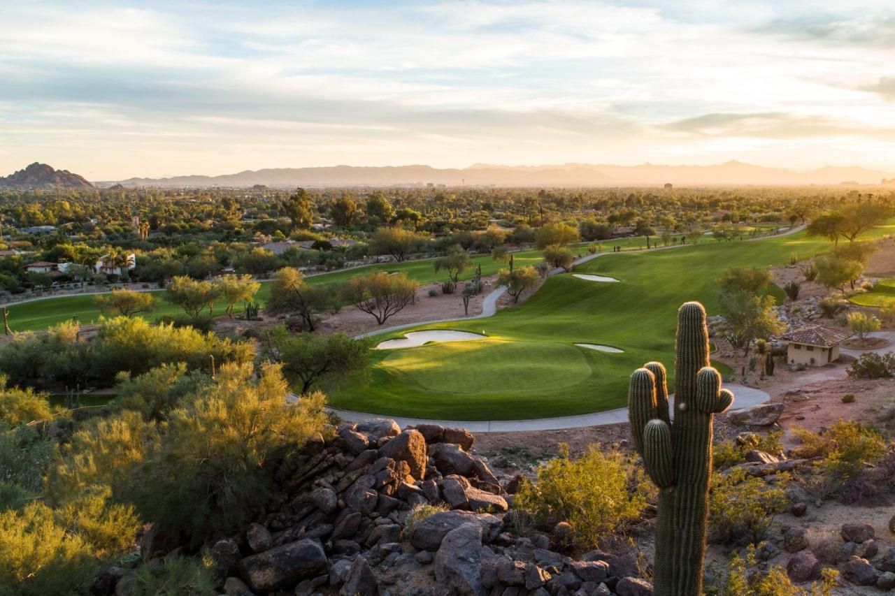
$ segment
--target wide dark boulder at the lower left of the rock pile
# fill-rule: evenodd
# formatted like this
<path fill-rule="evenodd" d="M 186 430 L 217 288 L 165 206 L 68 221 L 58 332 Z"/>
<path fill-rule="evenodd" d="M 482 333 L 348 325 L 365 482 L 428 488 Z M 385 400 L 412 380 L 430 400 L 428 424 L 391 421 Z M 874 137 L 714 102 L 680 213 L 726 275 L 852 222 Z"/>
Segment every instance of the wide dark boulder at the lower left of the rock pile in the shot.
<path fill-rule="evenodd" d="M 255 592 L 272 592 L 320 575 L 326 566 L 323 547 L 311 540 L 289 542 L 240 561 L 241 575 Z"/>

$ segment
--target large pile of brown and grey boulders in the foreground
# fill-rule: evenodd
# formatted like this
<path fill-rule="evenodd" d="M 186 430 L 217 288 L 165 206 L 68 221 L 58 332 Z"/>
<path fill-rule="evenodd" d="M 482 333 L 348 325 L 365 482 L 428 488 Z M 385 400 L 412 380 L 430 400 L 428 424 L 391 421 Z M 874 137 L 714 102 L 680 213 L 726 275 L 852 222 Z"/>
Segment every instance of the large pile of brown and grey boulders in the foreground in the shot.
<path fill-rule="evenodd" d="M 513 532 L 519 479 L 473 456 L 473 441 L 438 425 L 339 426 L 280 466 L 282 491 L 267 515 L 213 546 L 220 586 L 240 596 L 652 594 L 634 553 L 573 560 L 548 532 Z M 145 558 L 175 548 L 147 543 L 151 534 Z"/>

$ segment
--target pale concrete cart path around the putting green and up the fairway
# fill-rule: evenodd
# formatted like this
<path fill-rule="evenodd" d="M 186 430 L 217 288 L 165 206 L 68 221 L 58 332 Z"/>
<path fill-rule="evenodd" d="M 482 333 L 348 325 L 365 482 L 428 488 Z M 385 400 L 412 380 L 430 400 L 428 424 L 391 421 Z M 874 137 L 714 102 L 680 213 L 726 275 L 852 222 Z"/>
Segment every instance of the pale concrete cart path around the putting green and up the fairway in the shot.
<path fill-rule="evenodd" d="M 785 232 L 781 232 L 780 234 L 773 234 L 771 236 L 761 236 L 759 238 L 750 238 L 744 242 L 754 242 L 758 240 L 764 240 L 766 238 L 776 238 L 779 236 L 788 236 L 790 234 L 796 234 L 797 232 L 801 232 L 805 229 L 805 225 L 797 226 L 793 228 L 789 228 Z M 654 251 L 669 251 L 671 249 L 681 248 L 683 246 L 692 246 L 692 244 L 672 244 L 671 246 L 661 246 L 654 249 L 649 249 L 649 252 Z M 624 253 L 631 252 L 647 252 L 646 249 L 643 251 L 624 251 Z M 574 265 L 581 265 L 582 263 L 586 263 L 589 260 L 597 259 L 599 257 L 603 257 L 610 254 L 622 254 L 618 252 L 598 252 L 596 254 L 589 254 L 580 259 L 576 259 L 574 261 Z M 548 276 L 558 275 L 560 273 L 565 273 L 565 269 L 556 268 L 548 272 Z M 439 319 L 439 320 L 430 320 L 422 323 L 408 323 L 406 325 L 397 325 L 395 327 L 382 328 L 382 329 L 374 329 L 367 333 L 362 333 L 360 337 L 369 337 L 376 336 L 381 333 L 387 333 L 390 331 L 398 331 L 400 329 L 412 328 L 412 327 L 421 327 L 422 325 L 428 325 L 430 323 L 447 323 L 456 320 L 469 320 L 469 319 L 485 319 L 487 317 L 492 316 L 495 312 L 497 312 L 497 302 L 498 298 L 507 291 L 507 288 L 504 286 L 500 286 L 485 298 L 484 302 L 482 302 L 482 313 L 475 315 L 474 317 L 463 317 L 459 319 Z M 745 387 L 743 385 L 734 385 L 734 384 L 725 384 L 724 387 L 728 387 L 730 390 L 734 392 L 734 410 L 742 409 L 749 407 L 751 405 L 763 404 L 764 402 L 771 399 L 771 396 L 768 395 L 767 392 L 762 391 L 761 389 L 755 389 L 753 387 Z M 294 395 L 290 394 L 289 397 L 294 397 Z M 454 427 L 463 427 L 472 432 L 513 432 L 513 431 L 521 431 L 521 430 L 562 430 L 562 429 L 578 429 L 586 426 L 604 426 L 607 424 L 617 424 L 618 422 L 626 422 L 627 421 L 627 408 L 617 408 L 615 410 L 606 410 L 603 412 L 593 412 L 586 414 L 578 414 L 575 416 L 559 416 L 557 418 L 535 418 L 529 420 L 504 420 L 504 421 L 448 421 L 448 420 L 427 420 L 423 418 L 406 418 L 403 416 L 389 416 L 388 414 L 376 414 L 376 413 L 367 413 L 367 412 L 353 412 L 351 410 L 340 410 L 339 408 L 327 407 L 329 412 L 337 414 L 342 420 L 345 421 L 362 421 L 369 420 L 371 418 L 389 418 L 391 420 L 396 421 L 400 426 L 415 426 L 416 424 L 440 424 L 442 426 L 454 426 Z"/>

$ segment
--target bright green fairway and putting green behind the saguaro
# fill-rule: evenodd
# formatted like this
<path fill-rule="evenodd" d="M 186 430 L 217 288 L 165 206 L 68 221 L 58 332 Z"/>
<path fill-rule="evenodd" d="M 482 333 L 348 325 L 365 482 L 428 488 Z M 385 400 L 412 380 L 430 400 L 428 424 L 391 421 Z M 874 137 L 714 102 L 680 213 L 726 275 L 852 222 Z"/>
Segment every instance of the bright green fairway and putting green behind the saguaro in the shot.
<path fill-rule="evenodd" d="M 895 226 L 882 226 L 874 234 L 893 230 Z M 415 328 L 484 332 L 488 339 L 371 351 L 371 378 L 330 391 L 329 402 L 362 412 L 450 420 L 540 418 L 615 408 L 625 404 L 632 370 L 654 359 L 673 369 L 678 306 L 699 300 L 710 314 L 715 312 L 714 280 L 720 271 L 735 265 L 782 265 L 793 253 L 801 260 L 829 247 L 799 233 L 604 256 L 578 272 L 616 277 L 621 283 L 551 277 L 528 301 L 489 319 Z M 772 294 L 783 299 L 776 286 Z M 578 343 L 612 345 L 625 353 L 597 352 L 576 347 Z"/>

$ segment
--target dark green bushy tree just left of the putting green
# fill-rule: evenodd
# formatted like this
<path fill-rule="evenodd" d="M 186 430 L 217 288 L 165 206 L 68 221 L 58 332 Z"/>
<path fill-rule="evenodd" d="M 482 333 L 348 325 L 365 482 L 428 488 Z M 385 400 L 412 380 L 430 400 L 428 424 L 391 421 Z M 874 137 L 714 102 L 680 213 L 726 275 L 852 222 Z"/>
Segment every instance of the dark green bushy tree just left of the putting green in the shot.
<path fill-rule="evenodd" d="M 368 341 L 344 333 L 290 334 L 277 326 L 265 334 L 261 357 L 281 362 L 286 379 L 300 384 L 304 395 L 314 385 L 350 379 L 369 370 L 369 348 Z"/>

